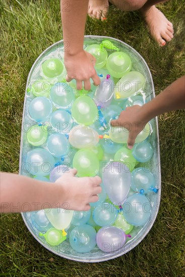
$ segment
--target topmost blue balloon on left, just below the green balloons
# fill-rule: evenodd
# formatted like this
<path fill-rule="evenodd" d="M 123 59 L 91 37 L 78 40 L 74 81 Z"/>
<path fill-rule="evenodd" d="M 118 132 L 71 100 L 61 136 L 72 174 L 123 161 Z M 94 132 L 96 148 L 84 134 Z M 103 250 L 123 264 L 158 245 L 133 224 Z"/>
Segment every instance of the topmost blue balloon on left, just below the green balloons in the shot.
<path fill-rule="evenodd" d="M 50 97 L 57 107 L 64 109 L 69 108 L 75 99 L 72 87 L 68 83 L 59 82 L 52 86 Z"/>

